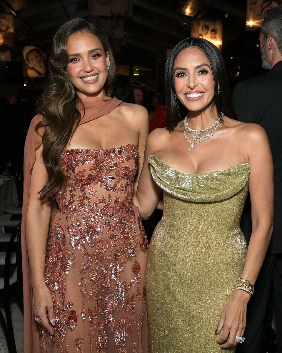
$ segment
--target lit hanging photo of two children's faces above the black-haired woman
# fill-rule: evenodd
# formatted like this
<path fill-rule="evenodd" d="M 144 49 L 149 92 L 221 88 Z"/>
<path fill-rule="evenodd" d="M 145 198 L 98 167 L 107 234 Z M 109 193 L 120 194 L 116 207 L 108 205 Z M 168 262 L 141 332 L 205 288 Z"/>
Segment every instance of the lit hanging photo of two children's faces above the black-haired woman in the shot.
<path fill-rule="evenodd" d="M 191 21 L 191 37 L 204 38 L 222 49 L 222 21 L 196 20 Z"/>

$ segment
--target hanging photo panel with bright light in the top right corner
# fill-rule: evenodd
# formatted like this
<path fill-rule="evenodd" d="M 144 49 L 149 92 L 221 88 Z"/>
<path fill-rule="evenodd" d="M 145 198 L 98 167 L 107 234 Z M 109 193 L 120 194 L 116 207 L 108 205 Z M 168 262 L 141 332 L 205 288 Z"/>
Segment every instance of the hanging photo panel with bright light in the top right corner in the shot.
<path fill-rule="evenodd" d="M 247 22 L 248 31 L 257 30 L 262 26 L 263 14 L 271 7 L 282 4 L 282 0 L 248 0 L 247 2 Z"/>

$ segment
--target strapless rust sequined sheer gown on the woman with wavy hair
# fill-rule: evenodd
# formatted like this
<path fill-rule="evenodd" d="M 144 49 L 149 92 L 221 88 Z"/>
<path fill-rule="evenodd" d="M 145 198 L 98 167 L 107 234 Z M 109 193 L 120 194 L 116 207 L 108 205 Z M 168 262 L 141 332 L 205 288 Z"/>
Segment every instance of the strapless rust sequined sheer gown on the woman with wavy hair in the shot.
<path fill-rule="evenodd" d="M 133 204 L 134 145 L 63 152 L 66 185 L 56 195 L 46 253 L 55 334 L 43 353 L 144 353 L 148 241 Z"/>

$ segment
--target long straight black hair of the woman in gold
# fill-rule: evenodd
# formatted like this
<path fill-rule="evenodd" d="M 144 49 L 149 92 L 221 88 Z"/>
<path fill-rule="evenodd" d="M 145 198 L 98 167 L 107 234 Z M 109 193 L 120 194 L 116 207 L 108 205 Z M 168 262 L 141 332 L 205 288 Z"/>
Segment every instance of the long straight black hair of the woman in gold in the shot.
<path fill-rule="evenodd" d="M 229 92 L 225 63 L 220 51 L 214 44 L 203 38 L 187 38 L 176 44 L 176 46 L 172 49 L 164 69 L 168 131 L 173 131 L 179 121 L 184 119 L 188 112 L 187 108 L 185 108 L 179 99 L 175 97 L 173 65 L 176 56 L 182 52 L 182 50 L 190 47 L 198 47 L 210 61 L 215 87 L 214 105 L 216 106 L 218 115 L 220 116 L 220 113 L 222 112 L 224 115 L 229 116 L 229 118 L 237 120 Z M 217 94 L 218 84 L 220 86 L 219 94 Z"/>

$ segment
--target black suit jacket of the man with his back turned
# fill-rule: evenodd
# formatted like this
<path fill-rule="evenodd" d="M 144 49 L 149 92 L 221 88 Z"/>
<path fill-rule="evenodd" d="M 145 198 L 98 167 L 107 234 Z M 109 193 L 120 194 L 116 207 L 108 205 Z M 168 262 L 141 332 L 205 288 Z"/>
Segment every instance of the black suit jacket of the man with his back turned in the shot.
<path fill-rule="evenodd" d="M 282 61 L 268 73 L 239 82 L 232 100 L 238 120 L 259 124 L 268 134 L 274 163 L 274 228 L 268 253 L 282 253 Z M 249 199 L 241 227 L 248 241 L 252 229 Z"/>

